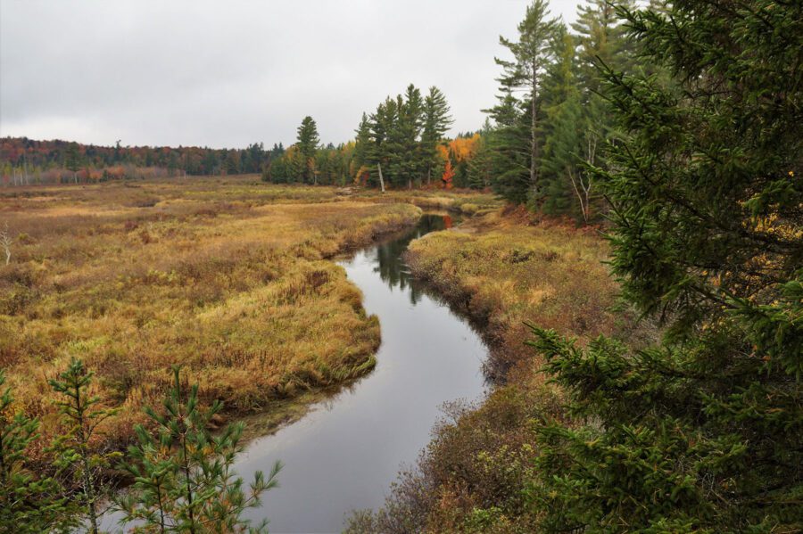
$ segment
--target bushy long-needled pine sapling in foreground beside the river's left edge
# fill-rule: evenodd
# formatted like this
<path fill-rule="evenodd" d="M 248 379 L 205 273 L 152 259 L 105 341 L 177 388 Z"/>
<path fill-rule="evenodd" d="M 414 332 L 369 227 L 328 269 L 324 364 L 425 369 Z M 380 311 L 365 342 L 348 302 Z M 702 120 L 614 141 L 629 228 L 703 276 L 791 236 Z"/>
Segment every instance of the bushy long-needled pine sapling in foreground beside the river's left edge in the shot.
<path fill-rule="evenodd" d="M 260 505 L 264 491 L 277 486 L 278 462 L 266 479 L 256 472 L 244 488 L 233 470 L 244 424 L 229 424 L 212 436 L 207 430 L 222 407 L 215 402 L 203 410 L 198 386 L 182 388 L 178 367 L 174 386 L 163 412 L 145 408 L 153 431 L 137 426 L 137 445 L 128 448 L 122 467 L 134 484 L 117 505 L 126 522 L 144 522 L 138 530 L 153 532 L 265 532 L 267 522 L 252 526 L 241 517 L 244 510 Z"/>

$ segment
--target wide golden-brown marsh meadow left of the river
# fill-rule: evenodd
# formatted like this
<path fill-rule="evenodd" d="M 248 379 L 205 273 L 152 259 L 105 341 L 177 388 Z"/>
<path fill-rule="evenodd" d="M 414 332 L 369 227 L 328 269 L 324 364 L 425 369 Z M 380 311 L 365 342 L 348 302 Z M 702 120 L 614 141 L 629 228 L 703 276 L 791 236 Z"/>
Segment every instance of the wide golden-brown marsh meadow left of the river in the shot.
<path fill-rule="evenodd" d="M 15 242 L 0 267 L 0 366 L 48 434 L 46 381 L 83 358 L 95 393 L 122 408 L 112 446 L 172 364 L 236 413 L 344 382 L 373 366 L 379 327 L 328 259 L 420 212 L 248 178 L 2 192 Z"/>

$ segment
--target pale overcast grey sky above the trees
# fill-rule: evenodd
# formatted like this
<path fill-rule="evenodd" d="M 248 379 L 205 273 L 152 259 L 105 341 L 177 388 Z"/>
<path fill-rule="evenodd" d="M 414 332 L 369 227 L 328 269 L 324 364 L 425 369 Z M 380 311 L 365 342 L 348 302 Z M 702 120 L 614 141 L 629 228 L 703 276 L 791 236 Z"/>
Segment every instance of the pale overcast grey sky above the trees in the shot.
<path fill-rule="evenodd" d="M 410 83 L 476 130 L 527 0 L 0 0 L 0 137 L 244 148 L 323 143 Z M 575 18 L 575 0 L 551 0 Z"/>

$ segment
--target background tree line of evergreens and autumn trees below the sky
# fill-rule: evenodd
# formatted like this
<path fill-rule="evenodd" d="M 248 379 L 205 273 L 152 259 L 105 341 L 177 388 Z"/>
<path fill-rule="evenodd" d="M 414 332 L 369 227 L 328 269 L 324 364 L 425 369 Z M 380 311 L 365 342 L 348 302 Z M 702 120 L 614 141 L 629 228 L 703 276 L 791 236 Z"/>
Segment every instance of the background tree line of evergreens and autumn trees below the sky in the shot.
<path fill-rule="evenodd" d="M 633 7 L 629 0 L 621 5 Z M 4 181 L 54 181 L 54 173 L 60 180 L 96 181 L 259 172 L 274 183 L 490 188 L 547 215 L 597 220 L 607 204 L 590 169 L 606 166 L 603 148 L 621 136 L 601 95 L 597 67 L 658 78 L 666 74 L 642 60 L 639 46 L 625 36 L 623 19 L 605 0 L 581 4 L 570 28 L 550 16 L 546 2 L 534 2 L 517 36 L 500 37 L 500 44 L 505 55 L 496 60 L 501 68 L 497 102 L 485 110 L 483 127 L 451 139 L 446 133 L 453 119 L 443 92 L 435 86 L 422 92 L 410 84 L 363 113 L 354 139 L 343 144 L 321 144 L 309 116 L 294 144 L 269 150 L 261 143 L 213 150 L 5 138 L 0 144 Z"/>

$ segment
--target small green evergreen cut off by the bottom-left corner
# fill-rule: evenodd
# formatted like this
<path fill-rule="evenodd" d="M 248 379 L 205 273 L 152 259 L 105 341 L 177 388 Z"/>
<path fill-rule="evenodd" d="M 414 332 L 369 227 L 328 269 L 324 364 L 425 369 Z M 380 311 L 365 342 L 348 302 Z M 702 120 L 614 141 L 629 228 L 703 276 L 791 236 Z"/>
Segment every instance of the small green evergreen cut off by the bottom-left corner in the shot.
<path fill-rule="evenodd" d="M 0 388 L 5 375 L 0 371 Z M 27 449 L 39 421 L 13 407 L 11 388 L 0 394 L 0 531 L 38 534 L 78 526 L 74 505 L 61 484 L 31 469 Z"/>

